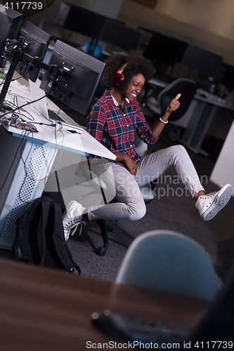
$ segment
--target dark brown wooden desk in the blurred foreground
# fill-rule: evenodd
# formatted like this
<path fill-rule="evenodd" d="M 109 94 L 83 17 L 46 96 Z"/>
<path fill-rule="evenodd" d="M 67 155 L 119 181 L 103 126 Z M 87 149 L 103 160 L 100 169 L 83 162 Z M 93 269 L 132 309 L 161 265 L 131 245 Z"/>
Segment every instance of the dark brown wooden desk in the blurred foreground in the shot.
<path fill-rule="evenodd" d="M 77 277 L 0 259 L 0 340 L 3 351 L 83 351 L 110 339 L 91 323 L 106 308 L 196 326 L 209 303 L 132 286 Z"/>

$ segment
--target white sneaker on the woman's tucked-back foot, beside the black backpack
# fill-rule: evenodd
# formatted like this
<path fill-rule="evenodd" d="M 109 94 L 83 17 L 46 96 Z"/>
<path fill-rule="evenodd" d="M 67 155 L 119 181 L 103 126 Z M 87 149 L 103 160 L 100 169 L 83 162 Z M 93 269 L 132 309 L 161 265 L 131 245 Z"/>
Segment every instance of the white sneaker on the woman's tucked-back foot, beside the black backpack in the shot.
<path fill-rule="evenodd" d="M 85 207 L 83 207 L 77 201 L 70 201 L 70 203 L 67 205 L 66 211 L 63 214 L 63 229 L 65 240 L 68 240 L 70 235 L 74 235 L 79 224 L 81 224 L 79 235 L 81 234 L 82 223 L 86 225 L 84 220 L 82 221 L 82 213 L 84 212 L 84 209 Z M 74 228 L 74 230 L 72 230 L 72 228 Z M 72 232 L 70 233 L 71 230 Z"/>

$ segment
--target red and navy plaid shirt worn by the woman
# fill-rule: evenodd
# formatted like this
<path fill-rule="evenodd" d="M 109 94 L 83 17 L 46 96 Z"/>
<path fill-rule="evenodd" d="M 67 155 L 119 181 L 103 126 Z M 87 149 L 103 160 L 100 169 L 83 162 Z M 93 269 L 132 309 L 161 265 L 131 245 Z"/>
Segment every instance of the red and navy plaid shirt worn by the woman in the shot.
<path fill-rule="evenodd" d="M 126 99 L 123 109 L 108 90 L 93 106 L 87 117 L 87 123 L 87 131 L 93 138 L 111 152 L 128 154 L 136 163 L 141 157 L 136 153 L 134 146 L 135 132 L 147 144 L 153 145 L 157 141 L 145 121 L 138 102 Z M 107 139 L 105 142 L 101 141 L 103 135 Z M 121 162 L 117 163 L 124 166 Z"/>

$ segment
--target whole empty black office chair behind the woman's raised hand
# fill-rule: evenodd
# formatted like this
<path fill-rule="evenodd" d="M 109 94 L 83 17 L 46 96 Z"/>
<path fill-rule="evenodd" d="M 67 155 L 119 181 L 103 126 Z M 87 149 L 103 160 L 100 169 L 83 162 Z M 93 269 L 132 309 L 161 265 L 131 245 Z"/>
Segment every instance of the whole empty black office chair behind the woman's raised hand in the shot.
<path fill-rule="evenodd" d="M 162 114 L 167 109 L 169 102 L 176 97 L 178 93 L 181 93 L 179 102 L 181 102 L 180 107 L 171 113 L 169 117 L 169 125 L 164 129 L 160 138 L 164 139 L 171 145 L 171 141 L 176 141 L 180 137 L 180 131 L 178 126 L 176 126 L 176 121 L 180 119 L 183 114 L 186 113 L 190 102 L 193 100 L 193 96 L 196 91 L 195 81 L 186 78 L 180 78 L 173 81 L 167 88 L 164 88 L 158 95 L 157 100 L 155 98 L 146 98 L 145 105 L 154 113 L 152 126 L 154 126 L 159 117 L 162 117 Z"/>

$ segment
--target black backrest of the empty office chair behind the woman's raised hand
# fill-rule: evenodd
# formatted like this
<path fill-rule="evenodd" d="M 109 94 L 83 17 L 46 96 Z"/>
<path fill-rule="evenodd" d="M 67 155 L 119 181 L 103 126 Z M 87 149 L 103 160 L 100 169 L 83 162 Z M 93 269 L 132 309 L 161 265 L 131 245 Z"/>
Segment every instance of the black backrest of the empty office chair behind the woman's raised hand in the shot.
<path fill-rule="evenodd" d="M 190 102 L 193 100 L 193 96 L 196 91 L 195 81 L 186 78 L 176 79 L 173 83 L 169 84 L 167 88 L 164 88 L 158 95 L 158 102 L 160 109 L 164 112 L 167 109 L 169 102 L 176 97 L 178 93 L 181 93 L 179 102 L 181 102 L 178 110 L 174 111 L 170 116 L 170 121 L 176 121 L 181 118 L 183 114 L 188 110 Z"/>

